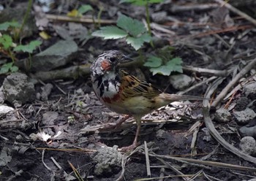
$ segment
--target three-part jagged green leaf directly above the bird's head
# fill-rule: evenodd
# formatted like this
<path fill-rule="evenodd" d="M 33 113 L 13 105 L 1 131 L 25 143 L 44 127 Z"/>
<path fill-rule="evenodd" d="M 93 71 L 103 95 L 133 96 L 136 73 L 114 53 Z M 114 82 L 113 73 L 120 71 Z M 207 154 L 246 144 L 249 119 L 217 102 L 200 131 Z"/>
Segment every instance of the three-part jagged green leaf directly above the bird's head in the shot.
<path fill-rule="evenodd" d="M 116 26 L 104 26 L 98 31 L 94 31 L 93 36 L 103 37 L 104 39 L 125 38 L 126 42 L 135 50 L 139 50 L 144 42 L 150 42 L 151 36 L 146 32 L 146 27 L 139 20 L 120 15 Z"/>

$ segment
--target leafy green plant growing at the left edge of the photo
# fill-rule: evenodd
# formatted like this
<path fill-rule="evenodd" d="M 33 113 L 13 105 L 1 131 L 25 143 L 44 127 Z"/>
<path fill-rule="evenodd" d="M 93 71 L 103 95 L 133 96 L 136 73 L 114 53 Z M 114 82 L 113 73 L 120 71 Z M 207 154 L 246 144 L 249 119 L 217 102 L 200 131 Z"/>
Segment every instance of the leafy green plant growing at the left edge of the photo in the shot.
<path fill-rule="evenodd" d="M 4 63 L 1 66 L 0 74 L 6 74 L 7 72 L 17 72 L 18 67 L 15 66 L 15 51 L 23 51 L 29 53 L 31 60 L 31 53 L 36 49 L 37 46 L 41 45 L 40 41 L 32 41 L 28 45 L 16 45 L 12 39 L 15 36 L 17 28 L 20 28 L 20 24 L 17 22 L 5 22 L 0 24 L 0 31 L 4 31 L 4 34 L 0 34 L 0 53 L 7 55 L 12 59 L 10 63 Z"/>

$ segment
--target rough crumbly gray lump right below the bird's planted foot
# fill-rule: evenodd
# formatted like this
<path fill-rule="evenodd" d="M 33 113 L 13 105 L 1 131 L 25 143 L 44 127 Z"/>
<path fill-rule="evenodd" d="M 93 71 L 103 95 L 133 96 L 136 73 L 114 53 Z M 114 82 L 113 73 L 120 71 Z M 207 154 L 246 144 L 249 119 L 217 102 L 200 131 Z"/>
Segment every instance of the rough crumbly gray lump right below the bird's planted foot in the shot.
<path fill-rule="evenodd" d="M 102 147 L 98 150 L 93 160 L 96 164 L 94 173 L 97 175 L 116 174 L 121 170 L 122 155 L 116 149 Z"/>

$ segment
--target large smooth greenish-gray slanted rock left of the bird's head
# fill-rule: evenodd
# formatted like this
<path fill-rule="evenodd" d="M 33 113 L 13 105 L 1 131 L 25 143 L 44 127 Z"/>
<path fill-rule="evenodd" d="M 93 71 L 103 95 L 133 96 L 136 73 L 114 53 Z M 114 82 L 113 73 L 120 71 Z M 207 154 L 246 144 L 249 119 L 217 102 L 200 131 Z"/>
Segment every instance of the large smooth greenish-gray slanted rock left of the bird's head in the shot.
<path fill-rule="evenodd" d="M 73 40 L 61 40 L 34 55 L 31 60 L 31 67 L 27 67 L 28 59 L 18 61 L 17 66 L 32 71 L 49 71 L 72 61 L 77 52 L 78 45 Z"/>

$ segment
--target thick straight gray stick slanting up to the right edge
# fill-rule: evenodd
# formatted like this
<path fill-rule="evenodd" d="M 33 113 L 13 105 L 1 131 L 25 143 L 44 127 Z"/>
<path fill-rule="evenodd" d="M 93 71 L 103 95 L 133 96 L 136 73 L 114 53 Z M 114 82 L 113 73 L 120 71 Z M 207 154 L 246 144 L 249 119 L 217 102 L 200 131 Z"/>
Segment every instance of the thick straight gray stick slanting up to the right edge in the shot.
<path fill-rule="evenodd" d="M 222 90 L 221 93 L 217 96 L 217 98 L 214 100 L 214 102 L 211 104 L 212 107 L 217 107 L 217 104 L 219 104 L 219 101 L 221 101 L 228 93 L 230 88 L 233 88 L 233 86 L 238 82 L 238 80 L 241 79 L 241 77 L 244 77 L 244 75 L 249 72 L 252 67 L 256 65 L 256 58 L 252 60 L 248 65 L 244 67 L 244 69 L 241 69 L 241 71 L 236 75 L 236 77 L 233 78 L 231 82 L 228 83 L 228 85 Z"/>

